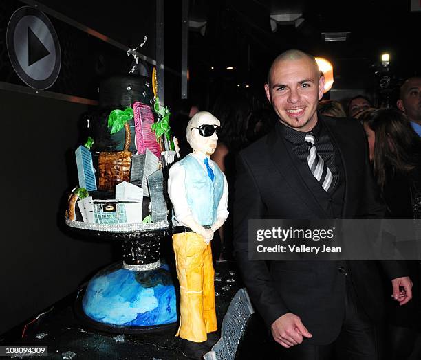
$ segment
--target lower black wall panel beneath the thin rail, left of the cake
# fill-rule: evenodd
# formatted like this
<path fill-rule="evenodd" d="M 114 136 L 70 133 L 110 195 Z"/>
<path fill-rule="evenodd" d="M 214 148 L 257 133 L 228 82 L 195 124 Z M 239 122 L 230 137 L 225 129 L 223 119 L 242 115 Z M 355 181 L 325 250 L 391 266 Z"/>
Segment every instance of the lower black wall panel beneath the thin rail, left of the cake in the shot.
<path fill-rule="evenodd" d="M 87 106 L 0 91 L 2 203 L 0 334 L 76 291 L 111 261 L 111 245 L 63 226 L 77 185 L 74 149 Z"/>

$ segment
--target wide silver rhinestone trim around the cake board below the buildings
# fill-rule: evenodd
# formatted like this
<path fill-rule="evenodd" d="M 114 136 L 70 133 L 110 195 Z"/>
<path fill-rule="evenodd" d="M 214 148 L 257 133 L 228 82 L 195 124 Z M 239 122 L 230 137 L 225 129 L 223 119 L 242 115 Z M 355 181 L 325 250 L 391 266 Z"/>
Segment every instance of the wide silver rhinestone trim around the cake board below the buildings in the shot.
<path fill-rule="evenodd" d="M 76 227 L 76 229 L 94 230 L 97 232 L 148 232 L 151 230 L 164 230 L 169 228 L 168 221 L 157 221 L 149 224 L 92 224 L 83 221 L 66 220 L 66 225 Z"/>

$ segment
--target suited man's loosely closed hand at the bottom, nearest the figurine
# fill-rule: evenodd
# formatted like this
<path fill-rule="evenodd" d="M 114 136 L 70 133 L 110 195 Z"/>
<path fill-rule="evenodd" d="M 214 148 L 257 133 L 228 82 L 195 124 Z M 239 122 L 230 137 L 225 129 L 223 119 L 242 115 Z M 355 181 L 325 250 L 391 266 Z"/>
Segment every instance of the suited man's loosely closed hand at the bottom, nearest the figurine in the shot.
<path fill-rule="evenodd" d="M 278 317 L 270 326 L 274 341 L 281 344 L 284 348 L 301 344 L 303 337 L 312 337 L 305 328 L 301 319 L 293 313 L 286 313 Z"/>

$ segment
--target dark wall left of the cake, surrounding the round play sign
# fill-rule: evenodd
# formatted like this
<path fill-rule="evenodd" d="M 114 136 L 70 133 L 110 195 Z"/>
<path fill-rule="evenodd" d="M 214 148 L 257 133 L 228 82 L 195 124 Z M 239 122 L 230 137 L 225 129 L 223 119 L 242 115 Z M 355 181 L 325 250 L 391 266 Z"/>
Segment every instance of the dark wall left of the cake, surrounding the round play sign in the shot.
<path fill-rule="evenodd" d="M 142 54 L 154 58 L 154 2 L 142 1 L 145 4 L 138 8 L 138 3 L 135 11 L 129 8 L 133 2 L 125 6 L 122 1 L 112 11 L 102 12 L 96 11 L 98 4 L 89 5 L 89 1 L 41 3 L 127 47 L 138 46 L 147 35 Z M 92 108 L 69 101 L 72 98 L 43 97 L 43 91 L 40 95 L 21 92 L 19 86 L 29 88 L 10 65 L 6 27 L 11 14 L 24 5 L 16 0 L 0 4 L 0 82 L 18 85 L 14 91 L 0 90 L 4 149 L 0 177 L 0 335 L 74 293 L 119 255 L 116 245 L 83 238 L 64 224 L 67 196 L 78 185 L 74 150 L 84 141 L 80 138 L 80 115 Z M 97 100 L 100 80 L 127 74 L 133 58 L 124 50 L 51 14 L 47 16 L 56 29 L 62 53 L 61 73 L 48 91 Z"/>

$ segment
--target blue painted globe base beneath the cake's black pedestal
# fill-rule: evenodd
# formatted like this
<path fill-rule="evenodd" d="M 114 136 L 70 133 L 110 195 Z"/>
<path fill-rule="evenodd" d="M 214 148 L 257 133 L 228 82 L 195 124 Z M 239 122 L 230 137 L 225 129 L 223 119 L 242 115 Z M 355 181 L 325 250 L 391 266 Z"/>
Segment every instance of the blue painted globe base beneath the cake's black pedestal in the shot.
<path fill-rule="evenodd" d="M 169 267 L 131 271 L 122 263 L 102 269 L 78 295 L 76 315 L 94 328 L 142 333 L 177 325 L 177 301 Z"/>

